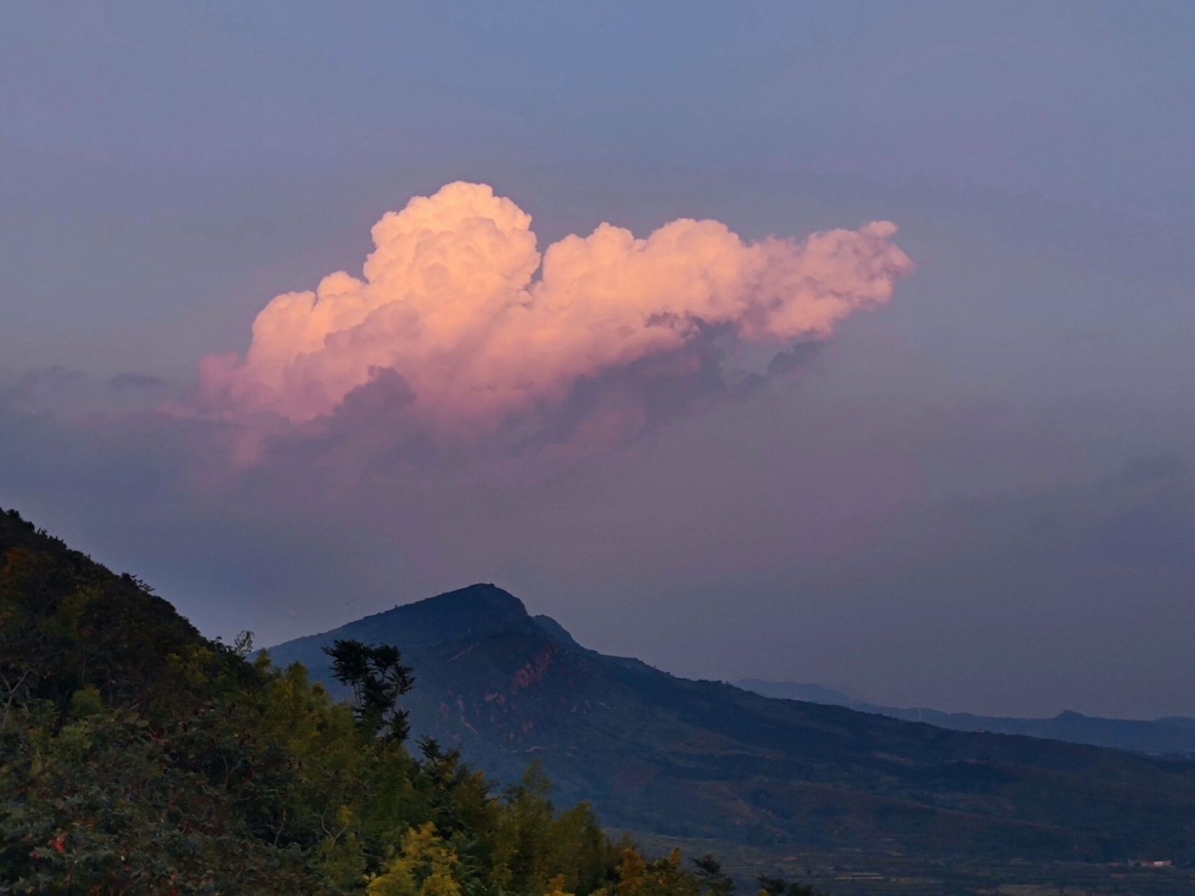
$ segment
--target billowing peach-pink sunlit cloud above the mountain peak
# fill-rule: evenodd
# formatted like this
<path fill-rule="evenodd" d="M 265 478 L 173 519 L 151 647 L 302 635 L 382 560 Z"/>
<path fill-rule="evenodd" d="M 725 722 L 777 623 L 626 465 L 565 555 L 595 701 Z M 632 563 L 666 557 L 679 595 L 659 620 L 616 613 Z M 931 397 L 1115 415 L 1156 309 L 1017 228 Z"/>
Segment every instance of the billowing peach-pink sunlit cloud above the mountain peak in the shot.
<path fill-rule="evenodd" d="M 473 440 L 633 366 L 695 375 L 693 346 L 711 333 L 777 352 L 823 339 L 888 301 L 912 269 L 895 233 L 877 221 L 744 243 L 717 221 L 673 221 L 646 239 L 603 223 L 541 258 L 526 211 L 484 184 L 453 183 L 374 225 L 362 277 L 337 271 L 275 297 L 244 360 L 203 361 L 201 392 L 232 418 L 298 423 L 386 380 L 402 383 L 404 399 L 384 412 L 404 429 Z"/>

